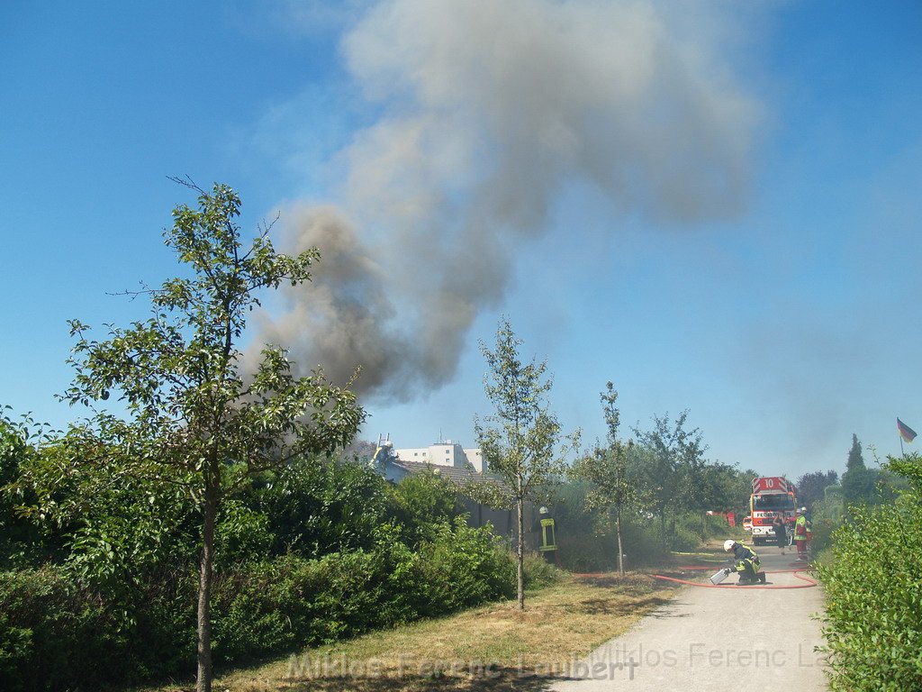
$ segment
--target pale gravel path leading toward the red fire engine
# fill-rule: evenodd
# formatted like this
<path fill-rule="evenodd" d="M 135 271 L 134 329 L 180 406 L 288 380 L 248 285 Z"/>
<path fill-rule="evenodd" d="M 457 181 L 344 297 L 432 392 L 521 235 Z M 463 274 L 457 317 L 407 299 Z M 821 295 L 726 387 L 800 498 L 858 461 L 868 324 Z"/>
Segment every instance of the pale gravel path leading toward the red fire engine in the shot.
<path fill-rule="evenodd" d="M 796 562 L 790 553 L 778 555 L 774 547 L 762 548 L 761 557 L 762 569 L 768 572 L 790 569 Z M 793 574 L 769 574 L 768 580 L 776 585 L 805 583 Z M 819 587 L 689 586 L 623 636 L 595 650 L 573 678 L 550 689 L 713 692 L 742 684 L 749 689 L 826 690 L 822 655 L 814 651 L 822 643 L 820 623 L 811 618 L 821 610 Z"/>

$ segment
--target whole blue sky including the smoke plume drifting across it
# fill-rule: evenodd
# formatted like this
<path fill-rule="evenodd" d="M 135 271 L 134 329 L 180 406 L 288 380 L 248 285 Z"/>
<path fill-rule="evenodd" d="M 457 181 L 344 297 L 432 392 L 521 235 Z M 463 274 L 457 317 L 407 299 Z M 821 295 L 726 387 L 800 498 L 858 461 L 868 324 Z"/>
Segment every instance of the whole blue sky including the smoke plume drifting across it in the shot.
<path fill-rule="evenodd" d="M 320 245 L 250 337 L 361 362 L 368 439 L 473 446 L 504 315 L 585 443 L 611 380 L 624 435 L 688 409 L 765 474 L 898 453 L 920 31 L 911 0 L 0 4 L 0 402 L 77 417 L 66 319 L 147 316 L 112 293 L 176 273 L 188 174 Z"/>

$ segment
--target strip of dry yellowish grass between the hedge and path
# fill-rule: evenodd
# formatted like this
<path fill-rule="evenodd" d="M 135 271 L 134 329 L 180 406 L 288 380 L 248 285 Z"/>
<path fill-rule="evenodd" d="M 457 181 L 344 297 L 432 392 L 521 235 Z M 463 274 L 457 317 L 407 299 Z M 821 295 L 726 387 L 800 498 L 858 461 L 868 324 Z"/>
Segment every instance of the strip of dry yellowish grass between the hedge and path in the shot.
<path fill-rule="evenodd" d="M 502 692 L 540 690 L 662 603 L 649 575 L 572 576 L 514 601 L 306 650 L 220 675 L 217 692 Z M 179 692 L 192 686 L 165 686 Z M 148 690 L 149 692 L 149 690 Z"/>

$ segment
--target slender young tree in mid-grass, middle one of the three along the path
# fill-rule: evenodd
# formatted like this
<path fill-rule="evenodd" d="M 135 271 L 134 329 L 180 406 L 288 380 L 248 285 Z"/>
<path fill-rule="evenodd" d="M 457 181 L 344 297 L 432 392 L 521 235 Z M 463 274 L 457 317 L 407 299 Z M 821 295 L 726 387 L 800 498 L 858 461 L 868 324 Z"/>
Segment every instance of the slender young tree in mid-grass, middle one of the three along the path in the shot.
<path fill-rule="evenodd" d="M 516 557 L 518 559 L 518 607 L 525 608 L 525 503 L 541 500 L 564 470 L 563 448 L 576 447 L 579 432 L 562 435 L 557 416 L 550 412 L 548 393 L 553 381 L 545 377 L 547 362 L 523 364 L 518 339 L 509 321 L 502 318 L 496 332 L 496 348 L 482 341 L 480 352 L 487 361 L 484 390 L 494 413 L 474 418 L 474 430 L 487 469 L 499 485 L 490 497 L 494 506 L 516 510 Z M 480 484 L 481 492 L 492 486 Z"/>

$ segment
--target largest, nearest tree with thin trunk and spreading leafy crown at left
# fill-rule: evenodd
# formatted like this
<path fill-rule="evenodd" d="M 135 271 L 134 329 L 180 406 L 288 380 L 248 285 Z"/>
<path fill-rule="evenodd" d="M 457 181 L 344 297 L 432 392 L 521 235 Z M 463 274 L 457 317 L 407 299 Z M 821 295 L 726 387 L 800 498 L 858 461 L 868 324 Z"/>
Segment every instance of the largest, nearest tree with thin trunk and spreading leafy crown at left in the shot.
<path fill-rule="evenodd" d="M 89 418 L 68 433 L 65 472 L 83 465 L 111 476 L 132 475 L 152 488 L 175 485 L 200 515 L 197 606 L 197 689 L 211 688 L 211 613 L 215 523 L 219 507 L 250 476 L 285 466 L 305 454 L 345 445 L 364 417 L 348 388 L 323 373 L 294 376 L 286 352 L 267 345 L 252 376 L 242 372 L 238 347 L 257 293 L 311 279 L 316 249 L 297 257 L 275 252 L 264 226 L 249 247 L 235 221 L 241 201 L 227 185 L 198 193 L 198 208 L 173 210 L 166 245 L 188 269 L 147 294 L 152 315 L 128 328 L 110 327 L 108 339 L 77 337 L 70 363 L 71 404 L 89 406 Z M 119 392 L 125 415 L 101 407 Z M 46 495 L 51 501 L 52 497 Z M 39 507 L 39 511 L 44 511 Z"/>

